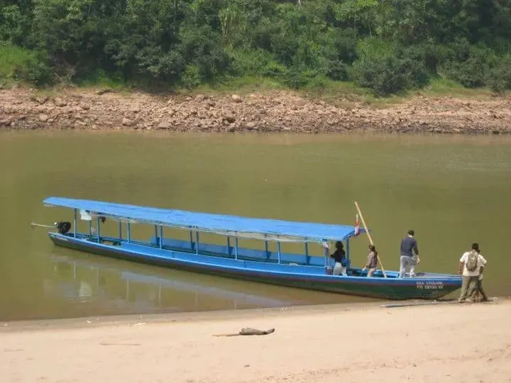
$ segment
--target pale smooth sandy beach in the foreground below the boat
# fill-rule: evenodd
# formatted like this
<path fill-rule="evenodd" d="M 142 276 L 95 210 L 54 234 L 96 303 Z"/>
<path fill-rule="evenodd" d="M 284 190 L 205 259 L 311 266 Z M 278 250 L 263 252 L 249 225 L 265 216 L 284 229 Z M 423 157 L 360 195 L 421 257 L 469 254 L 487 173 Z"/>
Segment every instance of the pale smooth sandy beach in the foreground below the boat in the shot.
<path fill-rule="evenodd" d="M 1 323 L 1 382 L 511 382 L 511 301 Z M 216 337 L 241 328 L 270 335 Z"/>

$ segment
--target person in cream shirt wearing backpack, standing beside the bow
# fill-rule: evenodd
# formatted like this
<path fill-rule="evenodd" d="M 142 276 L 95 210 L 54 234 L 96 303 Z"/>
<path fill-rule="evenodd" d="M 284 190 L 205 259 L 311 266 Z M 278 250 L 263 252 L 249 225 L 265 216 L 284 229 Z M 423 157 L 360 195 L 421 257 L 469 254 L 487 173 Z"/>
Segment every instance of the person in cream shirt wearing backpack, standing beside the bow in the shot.
<path fill-rule="evenodd" d="M 480 255 L 479 245 L 473 243 L 472 250 L 464 252 L 459 262 L 458 274 L 463 278 L 459 303 L 465 302 L 467 296 L 468 301 L 474 299 L 478 292 L 479 276 L 483 273 L 485 265 L 486 260 Z"/>

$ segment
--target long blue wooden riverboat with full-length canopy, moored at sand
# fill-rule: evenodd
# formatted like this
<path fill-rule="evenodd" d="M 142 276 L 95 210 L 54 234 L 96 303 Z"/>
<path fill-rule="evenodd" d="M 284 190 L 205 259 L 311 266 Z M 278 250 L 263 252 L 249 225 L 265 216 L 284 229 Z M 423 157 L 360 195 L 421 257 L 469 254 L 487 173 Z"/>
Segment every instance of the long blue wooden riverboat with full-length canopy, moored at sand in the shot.
<path fill-rule="evenodd" d="M 123 260 L 382 299 L 439 299 L 461 287 L 461 277 L 454 274 L 421 273 L 400 278 L 399 272 L 377 270 L 373 277 L 367 277 L 361 268 L 351 267 L 350 240 L 357 235 L 354 226 L 245 218 L 61 197 L 49 197 L 43 202 L 45 206 L 74 211 L 72 224 L 60 222 L 56 225 L 57 231 L 50 231 L 55 245 Z M 88 233 L 77 230 L 78 215 L 88 221 Z M 117 235 L 101 235 L 106 220 L 119 224 Z M 154 235 L 146 240 L 131 238 L 133 224 L 153 226 Z M 167 231 L 187 231 L 189 240 L 169 237 Z M 202 243 L 201 233 L 219 235 L 225 245 Z M 360 233 L 365 231 L 361 229 Z M 258 240 L 260 248 L 238 246 L 238 239 L 247 238 Z M 331 260 L 326 255 L 319 257 L 309 253 L 309 245 L 322 246 L 338 240 L 346 244 L 348 268 L 344 276 L 331 275 Z M 269 243 L 276 243 L 277 251 L 270 250 Z M 302 243 L 303 253 L 283 252 L 283 243 Z"/>

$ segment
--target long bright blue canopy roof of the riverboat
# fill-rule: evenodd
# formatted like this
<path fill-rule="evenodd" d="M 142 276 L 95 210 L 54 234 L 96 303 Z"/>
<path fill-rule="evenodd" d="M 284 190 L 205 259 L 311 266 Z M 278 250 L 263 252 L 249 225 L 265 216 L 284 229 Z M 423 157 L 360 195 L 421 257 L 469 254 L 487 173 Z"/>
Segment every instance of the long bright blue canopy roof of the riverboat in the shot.
<path fill-rule="evenodd" d="M 79 209 L 82 213 L 91 216 L 104 216 L 131 223 L 149 223 L 239 238 L 322 243 L 346 240 L 355 235 L 355 227 L 344 225 L 226 216 L 56 196 L 49 197 L 43 202 L 46 206 Z M 365 231 L 361 228 L 360 232 L 364 233 Z"/>

